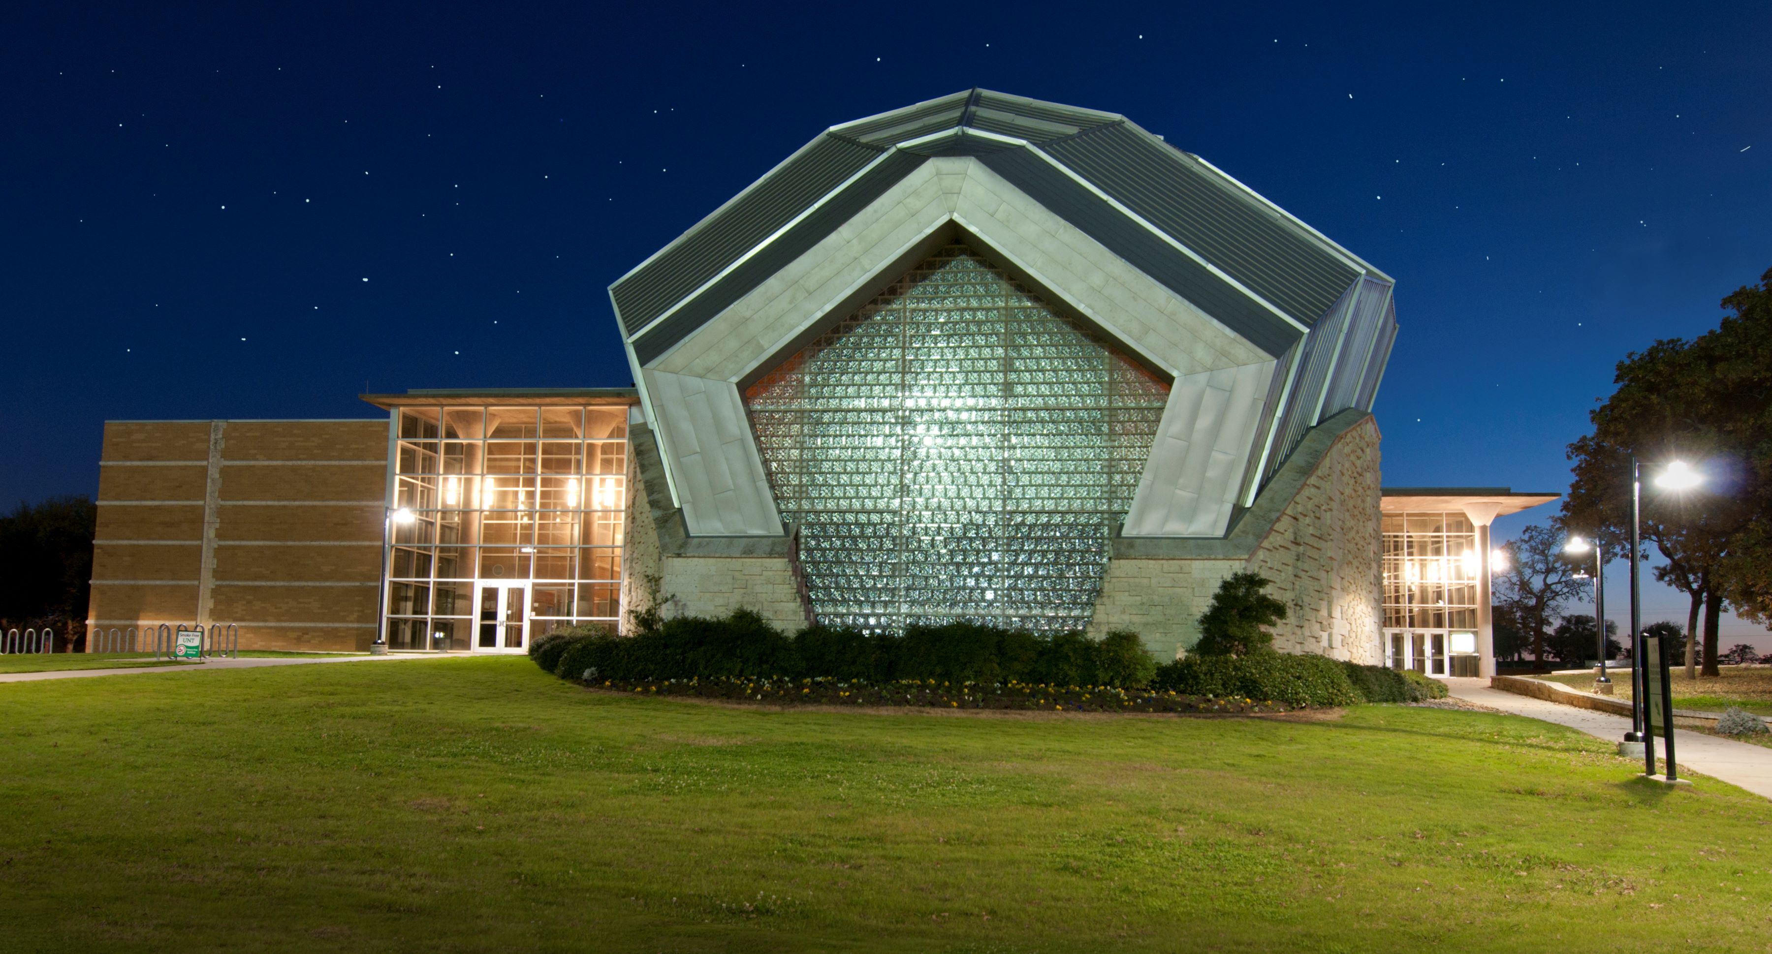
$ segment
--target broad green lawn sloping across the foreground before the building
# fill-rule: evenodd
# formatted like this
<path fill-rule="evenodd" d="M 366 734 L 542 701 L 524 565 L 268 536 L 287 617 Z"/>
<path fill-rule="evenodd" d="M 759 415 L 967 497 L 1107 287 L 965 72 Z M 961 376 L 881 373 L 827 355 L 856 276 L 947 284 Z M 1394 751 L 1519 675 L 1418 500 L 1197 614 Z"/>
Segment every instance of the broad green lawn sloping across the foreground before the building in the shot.
<path fill-rule="evenodd" d="M 413 660 L 0 685 L 0 752 L 25 950 L 1761 950 L 1772 896 L 1767 800 L 1428 708 L 780 710 Z"/>

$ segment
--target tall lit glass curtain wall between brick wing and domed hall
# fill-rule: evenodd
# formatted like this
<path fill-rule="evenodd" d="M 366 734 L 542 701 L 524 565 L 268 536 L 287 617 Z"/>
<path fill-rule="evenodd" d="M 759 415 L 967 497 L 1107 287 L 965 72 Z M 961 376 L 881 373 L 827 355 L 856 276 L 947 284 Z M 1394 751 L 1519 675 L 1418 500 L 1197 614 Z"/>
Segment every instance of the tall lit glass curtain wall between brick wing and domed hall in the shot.
<path fill-rule="evenodd" d="M 489 589 L 496 648 L 620 616 L 627 407 L 399 407 L 388 646 L 468 650 Z M 519 596 L 512 596 L 517 593 Z M 500 618 L 501 621 L 505 616 Z M 494 648 L 482 644 L 480 648 Z"/>

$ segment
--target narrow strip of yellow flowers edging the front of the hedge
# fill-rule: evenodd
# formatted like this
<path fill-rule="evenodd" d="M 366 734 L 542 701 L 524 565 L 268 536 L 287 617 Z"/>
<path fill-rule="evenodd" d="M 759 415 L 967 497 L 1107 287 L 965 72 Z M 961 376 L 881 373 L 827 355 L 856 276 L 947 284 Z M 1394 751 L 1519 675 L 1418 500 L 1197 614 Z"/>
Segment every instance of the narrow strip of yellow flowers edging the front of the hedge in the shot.
<path fill-rule="evenodd" d="M 689 696 L 778 706 L 904 706 L 1010 712 L 1154 712 L 1154 713 L 1267 713 L 1297 706 L 1267 699 L 1178 696 L 1106 685 L 950 683 L 895 680 L 886 683 L 840 680 L 785 680 L 705 676 L 689 680 L 576 680 L 590 689 L 640 696 Z"/>

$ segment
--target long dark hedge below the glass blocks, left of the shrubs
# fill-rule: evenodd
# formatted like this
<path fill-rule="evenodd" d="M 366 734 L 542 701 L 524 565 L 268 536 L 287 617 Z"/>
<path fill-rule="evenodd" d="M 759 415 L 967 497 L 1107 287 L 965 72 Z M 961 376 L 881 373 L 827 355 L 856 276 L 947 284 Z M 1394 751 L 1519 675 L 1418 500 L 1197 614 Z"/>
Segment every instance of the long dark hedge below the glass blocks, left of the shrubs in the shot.
<path fill-rule="evenodd" d="M 725 619 L 679 616 L 617 637 L 578 627 L 537 639 L 537 665 L 562 678 L 689 680 L 698 676 L 833 678 L 867 683 L 1047 683 L 1145 687 L 1157 665 L 1136 634 L 1095 641 L 1079 632 L 1038 635 L 976 623 L 909 627 L 904 635 L 808 627 L 794 635 L 750 611 Z"/>

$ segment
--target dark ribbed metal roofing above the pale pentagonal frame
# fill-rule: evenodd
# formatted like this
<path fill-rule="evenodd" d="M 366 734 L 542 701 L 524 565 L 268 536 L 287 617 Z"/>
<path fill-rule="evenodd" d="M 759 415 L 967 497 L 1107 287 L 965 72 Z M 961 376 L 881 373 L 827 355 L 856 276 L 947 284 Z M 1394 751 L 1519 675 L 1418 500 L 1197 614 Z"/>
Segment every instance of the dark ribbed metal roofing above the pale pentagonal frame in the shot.
<path fill-rule="evenodd" d="M 833 126 L 615 281 L 634 358 L 670 350 L 932 156 L 978 156 L 1269 354 L 1361 278 L 1389 283 L 1122 115 L 975 88 Z"/>

